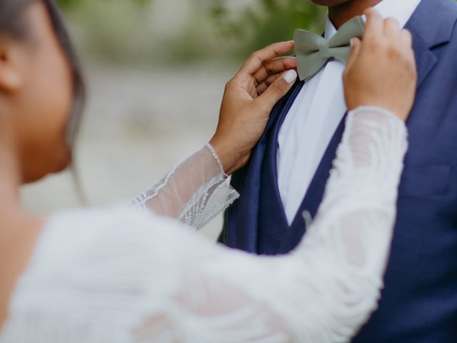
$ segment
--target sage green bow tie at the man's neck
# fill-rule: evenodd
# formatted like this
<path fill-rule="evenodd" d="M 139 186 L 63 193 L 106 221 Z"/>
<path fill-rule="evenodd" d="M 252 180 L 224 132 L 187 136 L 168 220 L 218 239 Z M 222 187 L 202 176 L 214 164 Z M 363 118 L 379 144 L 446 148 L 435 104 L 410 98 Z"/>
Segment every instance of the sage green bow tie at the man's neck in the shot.
<path fill-rule="evenodd" d="M 300 80 L 311 79 L 334 58 L 346 63 L 351 53 L 351 39 L 362 38 L 365 21 L 361 16 L 343 24 L 329 40 L 306 30 L 296 30 L 293 36 L 297 56 L 297 69 Z"/>

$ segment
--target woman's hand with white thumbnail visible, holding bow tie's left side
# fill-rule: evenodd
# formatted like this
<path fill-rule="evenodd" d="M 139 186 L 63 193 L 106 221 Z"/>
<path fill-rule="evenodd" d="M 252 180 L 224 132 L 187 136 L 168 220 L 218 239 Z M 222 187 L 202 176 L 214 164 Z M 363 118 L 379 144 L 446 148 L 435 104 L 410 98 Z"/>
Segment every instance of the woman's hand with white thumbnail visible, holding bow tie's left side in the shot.
<path fill-rule="evenodd" d="M 219 124 L 210 141 L 226 174 L 246 164 L 271 109 L 296 81 L 296 58 L 278 57 L 291 49 L 293 41 L 286 41 L 253 53 L 226 84 Z"/>

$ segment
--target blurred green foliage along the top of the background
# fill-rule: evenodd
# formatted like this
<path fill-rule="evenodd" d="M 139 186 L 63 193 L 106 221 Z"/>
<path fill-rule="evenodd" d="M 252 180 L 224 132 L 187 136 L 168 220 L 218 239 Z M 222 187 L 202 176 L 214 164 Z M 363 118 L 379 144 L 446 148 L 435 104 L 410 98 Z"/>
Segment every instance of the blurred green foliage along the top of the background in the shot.
<path fill-rule="evenodd" d="M 308 0 L 56 1 L 81 49 L 124 64 L 238 61 L 296 28 L 321 31 L 325 18 Z"/>

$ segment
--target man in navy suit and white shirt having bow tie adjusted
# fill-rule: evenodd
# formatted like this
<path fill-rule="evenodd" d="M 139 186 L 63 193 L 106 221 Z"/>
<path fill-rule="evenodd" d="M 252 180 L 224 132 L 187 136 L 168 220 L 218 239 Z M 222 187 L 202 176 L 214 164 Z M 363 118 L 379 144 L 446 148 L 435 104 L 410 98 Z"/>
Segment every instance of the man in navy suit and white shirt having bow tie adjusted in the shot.
<path fill-rule="evenodd" d="M 413 34 L 416 104 L 399 189 L 391 259 L 378 310 L 356 343 L 457 342 L 457 5 L 453 0 L 313 0 L 328 6 L 325 38 L 369 6 Z M 373 66 L 376 68 L 376 66 Z M 298 82 L 271 112 L 221 241 L 256 254 L 296 247 L 323 197 L 346 106 L 336 59 Z"/>

